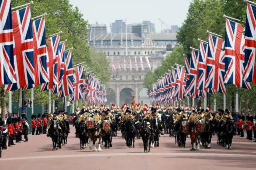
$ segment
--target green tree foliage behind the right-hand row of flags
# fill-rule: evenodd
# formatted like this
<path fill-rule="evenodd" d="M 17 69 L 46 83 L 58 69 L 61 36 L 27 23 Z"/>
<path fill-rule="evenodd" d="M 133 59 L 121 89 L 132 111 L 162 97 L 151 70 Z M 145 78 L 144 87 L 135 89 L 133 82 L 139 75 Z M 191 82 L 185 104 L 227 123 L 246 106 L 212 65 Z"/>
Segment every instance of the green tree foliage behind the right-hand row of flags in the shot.
<path fill-rule="evenodd" d="M 255 0 L 252 0 L 255 2 Z M 241 21 L 246 20 L 246 3 L 243 0 L 194 0 L 190 3 L 187 17 L 182 23 L 182 28 L 178 32 L 176 38 L 178 46 L 174 48 L 172 53 L 166 56 L 162 61 L 162 65 L 158 67 L 154 73 L 151 71 L 147 73 L 144 79 L 144 87 L 152 90 L 152 83 L 163 76 L 168 69 L 171 69 L 178 63 L 185 65 L 183 53 L 190 58 L 191 47 L 199 49 L 198 38 L 208 41 L 208 34 L 206 31 L 214 32 L 225 38 L 225 18 L 223 15 L 237 18 Z M 244 22 L 240 22 L 243 26 Z M 226 85 L 226 105 L 231 109 L 231 94 L 238 92 L 239 95 L 239 110 L 252 109 L 256 111 L 256 106 L 252 103 L 256 102 L 255 85 L 251 83 L 252 91 L 237 88 L 234 85 Z M 212 96 L 211 107 L 213 108 L 213 98 L 216 98 L 217 108 L 223 108 L 223 94 L 217 93 Z"/>

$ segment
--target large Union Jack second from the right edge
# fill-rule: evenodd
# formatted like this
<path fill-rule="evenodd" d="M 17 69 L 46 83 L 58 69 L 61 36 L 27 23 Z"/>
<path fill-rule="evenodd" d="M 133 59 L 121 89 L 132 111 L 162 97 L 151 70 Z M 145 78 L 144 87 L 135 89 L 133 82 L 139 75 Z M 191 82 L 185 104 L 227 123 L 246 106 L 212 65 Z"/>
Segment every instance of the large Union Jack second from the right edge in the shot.
<path fill-rule="evenodd" d="M 225 72 L 224 83 L 251 89 L 250 83 L 243 80 L 244 73 L 243 27 L 226 19 Z"/>

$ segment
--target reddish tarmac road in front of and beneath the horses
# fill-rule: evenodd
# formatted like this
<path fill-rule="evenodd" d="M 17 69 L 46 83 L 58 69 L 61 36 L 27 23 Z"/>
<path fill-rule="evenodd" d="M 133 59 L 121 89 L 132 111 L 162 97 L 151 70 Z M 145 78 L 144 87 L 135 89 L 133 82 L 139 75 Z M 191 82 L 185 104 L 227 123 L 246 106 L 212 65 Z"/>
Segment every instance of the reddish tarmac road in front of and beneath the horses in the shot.
<path fill-rule="evenodd" d="M 256 142 L 234 136 L 232 150 L 218 146 L 212 138 L 211 149 L 190 151 L 175 144 L 174 138 L 165 134 L 160 147 L 144 153 L 142 140 L 135 140 L 135 148 L 128 148 L 118 133 L 113 137 L 113 147 L 92 152 L 80 150 L 79 138 L 71 128 L 68 144 L 52 151 L 52 140 L 43 135 L 29 135 L 29 142 L 18 143 L 3 150 L 0 170 L 255 170 Z M 96 145 L 98 149 L 98 144 Z"/>

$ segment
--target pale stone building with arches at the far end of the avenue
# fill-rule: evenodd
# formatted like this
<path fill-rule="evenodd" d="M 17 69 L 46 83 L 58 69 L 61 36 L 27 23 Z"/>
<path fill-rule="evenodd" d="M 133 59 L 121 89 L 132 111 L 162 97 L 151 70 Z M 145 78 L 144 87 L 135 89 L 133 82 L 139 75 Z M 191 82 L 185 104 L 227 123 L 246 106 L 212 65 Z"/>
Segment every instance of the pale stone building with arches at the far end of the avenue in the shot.
<path fill-rule="evenodd" d="M 136 103 L 149 103 L 148 90 L 143 87 L 144 77 L 162 65 L 166 46 L 175 47 L 177 42 L 176 34 L 151 33 L 148 25 L 141 24 L 132 26 L 132 32 L 127 35 L 107 33 L 104 25 L 91 25 L 88 43 L 104 52 L 110 61 L 112 79 L 107 93 L 111 91 L 112 95 L 108 101 L 122 105 L 130 104 L 132 95 Z"/>

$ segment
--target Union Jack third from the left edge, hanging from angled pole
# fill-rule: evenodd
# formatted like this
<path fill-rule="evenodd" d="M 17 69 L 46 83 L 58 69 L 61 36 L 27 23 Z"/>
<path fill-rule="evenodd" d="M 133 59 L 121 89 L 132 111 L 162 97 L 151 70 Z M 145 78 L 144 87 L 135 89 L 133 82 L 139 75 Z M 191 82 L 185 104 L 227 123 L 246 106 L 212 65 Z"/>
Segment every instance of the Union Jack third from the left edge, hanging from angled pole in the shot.
<path fill-rule="evenodd" d="M 24 90 L 49 82 L 47 72 L 46 37 L 44 17 L 33 22 L 35 83 L 26 85 Z"/>

